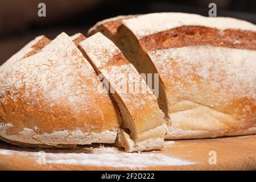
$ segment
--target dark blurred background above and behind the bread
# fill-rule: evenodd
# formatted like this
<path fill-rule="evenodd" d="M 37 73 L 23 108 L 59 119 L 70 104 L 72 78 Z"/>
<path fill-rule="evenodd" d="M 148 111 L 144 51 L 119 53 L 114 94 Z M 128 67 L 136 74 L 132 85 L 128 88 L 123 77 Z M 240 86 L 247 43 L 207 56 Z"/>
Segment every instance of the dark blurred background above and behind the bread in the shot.
<path fill-rule="evenodd" d="M 40 18 L 41 2 L 46 4 L 47 16 Z M 0 0 L 0 65 L 38 35 L 53 39 L 63 31 L 86 34 L 99 20 L 117 15 L 173 11 L 208 16 L 211 2 L 217 5 L 217 16 L 256 24 L 255 0 Z"/>

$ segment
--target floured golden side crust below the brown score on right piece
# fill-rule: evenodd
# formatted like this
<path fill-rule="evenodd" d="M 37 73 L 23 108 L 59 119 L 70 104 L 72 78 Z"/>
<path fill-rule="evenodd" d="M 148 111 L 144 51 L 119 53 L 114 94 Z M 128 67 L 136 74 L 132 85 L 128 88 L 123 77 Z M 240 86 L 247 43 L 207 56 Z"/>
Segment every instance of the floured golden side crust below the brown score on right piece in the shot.
<path fill-rule="evenodd" d="M 195 46 L 148 55 L 166 86 L 171 127 L 221 137 L 256 126 L 256 51 Z"/>

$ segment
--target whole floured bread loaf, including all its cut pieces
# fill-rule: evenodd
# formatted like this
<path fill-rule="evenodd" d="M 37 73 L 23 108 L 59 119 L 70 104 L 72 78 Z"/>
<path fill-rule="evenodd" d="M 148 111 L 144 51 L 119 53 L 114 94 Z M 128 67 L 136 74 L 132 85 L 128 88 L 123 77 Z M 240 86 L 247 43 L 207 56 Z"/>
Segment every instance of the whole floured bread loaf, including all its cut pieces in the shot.
<path fill-rule="evenodd" d="M 254 24 L 155 13 L 104 20 L 88 35 L 39 36 L 0 67 L 2 140 L 130 152 L 256 133 Z M 150 90 L 140 73 L 159 85 Z"/>

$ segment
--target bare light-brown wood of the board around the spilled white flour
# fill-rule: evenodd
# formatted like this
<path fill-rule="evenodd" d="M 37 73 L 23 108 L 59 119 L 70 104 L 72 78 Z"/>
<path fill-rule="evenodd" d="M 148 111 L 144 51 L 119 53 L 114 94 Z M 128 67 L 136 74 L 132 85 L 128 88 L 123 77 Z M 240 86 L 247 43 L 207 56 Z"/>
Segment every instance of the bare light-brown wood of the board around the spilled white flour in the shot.
<path fill-rule="evenodd" d="M 169 144 L 168 144 L 169 143 Z M 97 166 L 86 164 L 39 164 L 32 154 L 44 151 L 54 154 L 88 153 L 88 148 L 82 146 L 76 149 L 40 149 L 20 148 L 0 142 L 1 170 L 256 170 L 256 135 L 243 137 L 225 137 L 217 139 L 176 140 L 166 142 L 166 147 L 160 151 L 142 152 L 141 154 L 162 154 L 171 158 L 179 158 L 194 162 L 183 166 L 144 166 L 140 168 Z M 26 151 L 26 155 L 24 155 Z M 31 154 L 31 155 L 30 155 Z M 123 154 L 118 151 L 118 154 Z M 101 154 L 98 154 L 101 155 Z M 134 153 L 129 155 L 135 155 Z M 216 156 L 216 164 L 213 157 Z M 67 155 L 72 159 L 72 155 Z M 108 159 L 106 159 L 108 160 Z M 210 163 L 209 164 L 209 160 Z"/>

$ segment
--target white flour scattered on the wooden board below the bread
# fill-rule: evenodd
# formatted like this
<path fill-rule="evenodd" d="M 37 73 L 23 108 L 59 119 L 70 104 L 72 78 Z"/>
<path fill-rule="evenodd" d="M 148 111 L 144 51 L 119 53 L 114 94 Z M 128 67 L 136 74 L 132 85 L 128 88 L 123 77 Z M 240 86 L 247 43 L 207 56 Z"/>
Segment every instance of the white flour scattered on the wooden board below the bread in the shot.
<path fill-rule="evenodd" d="M 174 143 L 174 142 L 172 142 Z M 38 160 L 42 153 L 1 149 L 0 155 L 30 156 Z M 195 164 L 188 160 L 148 152 L 127 153 L 115 147 L 86 148 L 86 153 L 46 153 L 46 163 L 84 166 L 142 168 L 147 166 L 184 166 Z"/>

